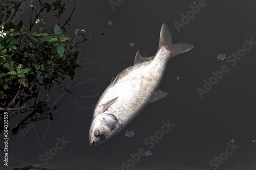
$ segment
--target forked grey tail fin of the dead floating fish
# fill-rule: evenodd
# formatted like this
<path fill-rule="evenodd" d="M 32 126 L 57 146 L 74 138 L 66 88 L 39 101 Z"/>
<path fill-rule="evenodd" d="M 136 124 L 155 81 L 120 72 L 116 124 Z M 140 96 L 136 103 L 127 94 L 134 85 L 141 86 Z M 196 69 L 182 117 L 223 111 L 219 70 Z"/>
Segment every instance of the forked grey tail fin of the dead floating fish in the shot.
<path fill-rule="evenodd" d="M 176 43 L 173 44 L 172 42 L 172 34 L 170 34 L 170 31 L 168 30 L 167 26 L 165 23 L 163 23 L 161 32 L 160 32 L 160 40 L 159 40 L 159 47 L 158 51 L 161 50 L 161 48 L 165 48 L 165 50 L 169 51 L 169 54 L 167 59 L 169 60 L 170 58 L 181 54 L 185 53 L 189 50 L 191 50 L 194 45 L 187 44 L 187 43 Z"/>

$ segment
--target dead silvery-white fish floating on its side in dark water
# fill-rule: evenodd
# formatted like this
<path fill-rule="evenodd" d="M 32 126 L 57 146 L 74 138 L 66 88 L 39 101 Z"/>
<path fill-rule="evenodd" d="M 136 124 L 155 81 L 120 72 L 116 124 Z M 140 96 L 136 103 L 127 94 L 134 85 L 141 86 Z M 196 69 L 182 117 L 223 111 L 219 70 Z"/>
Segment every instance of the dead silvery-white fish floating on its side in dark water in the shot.
<path fill-rule="evenodd" d="M 194 45 L 172 43 L 166 24 L 162 25 L 155 56 L 142 57 L 137 52 L 134 65 L 124 69 L 101 95 L 89 131 L 91 145 L 118 134 L 150 103 L 168 93 L 158 89 L 168 61 L 191 50 Z"/>

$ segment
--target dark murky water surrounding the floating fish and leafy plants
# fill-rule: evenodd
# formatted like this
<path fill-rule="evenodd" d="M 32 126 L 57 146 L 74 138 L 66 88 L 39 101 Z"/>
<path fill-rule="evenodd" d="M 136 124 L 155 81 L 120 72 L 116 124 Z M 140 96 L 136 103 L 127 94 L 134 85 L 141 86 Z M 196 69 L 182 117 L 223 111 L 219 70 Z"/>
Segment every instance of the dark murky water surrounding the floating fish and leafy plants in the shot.
<path fill-rule="evenodd" d="M 39 16 L 49 25 L 64 23 L 75 8 L 66 34 L 75 39 L 74 30 L 85 29 L 92 44 L 88 41 L 79 46 L 81 67 L 74 81 L 67 81 L 74 94 L 63 93 L 55 104 L 58 107 L 49 129 L 48 120 L 42 120 L 28 127 L 22 137 L 11 137 L 9 166 L 2 161 L 1 169 L 29 165 L 94 170 L 256 169 L 256 2 L 120 0 L 117 5 L 113 10 L 109 1 L 76 1 L 76 5 L 67 1 L 60 20 L 54 11 Z M 197 14 L 189 12 L 190 6 Z M 181 14 L 187 12 L 190 19 L 183 20 L 178 30 L 175 23 L 182 24 Z M 23 15 L 26 20 L 26 13 Z M 91 147 L 88 133 L 93 106 L 111 78 L 133 65 L 140 47 L 144 56 L 155 55 L 162 23 L 168 25 L 174 42 L 195 45 L 168 63 L 160 88 L 169 94 L 148 105 L 127 127 L 135 130 L 133 137 L 126 137 L 125 129 L 109 142 Z M 234 59 L 232 53 L 243 57 Z M 218 54 L 226 59 L 219 61 Z M 222 69 L 225 73 L 220 74 Z M 220 80 L 212 71 L 222 75 Z M 214 85 L 204 89 L 204 80 Z M 206 90 L 201 96 L 199 88 Z M 56 94 L 60 92 L 56 88 Z M 97 93 L 94 98 L 84 97 Z M 163 122 L 168 121 L 174 126 L 160 133 Z M 148 139 L 151 135 L 159 139 Z M 65 141 L 61 144 L 59 140 Z M 153 154 L 138 156 L 140 148 Z"/>

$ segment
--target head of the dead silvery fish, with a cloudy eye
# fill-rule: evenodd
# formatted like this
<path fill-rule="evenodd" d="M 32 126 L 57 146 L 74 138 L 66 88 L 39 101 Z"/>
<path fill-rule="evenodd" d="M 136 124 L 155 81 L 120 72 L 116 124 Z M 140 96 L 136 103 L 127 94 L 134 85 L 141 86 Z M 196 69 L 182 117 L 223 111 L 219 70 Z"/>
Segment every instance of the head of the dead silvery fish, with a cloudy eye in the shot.
<path fill-rule="evenodd" d="M 96 115 L 89 131 L 91 145 L 98 145 L 111 138 L 118 129 L 117 118 L 109 111 Z"/>

